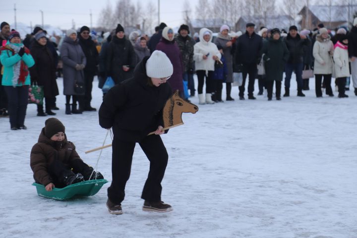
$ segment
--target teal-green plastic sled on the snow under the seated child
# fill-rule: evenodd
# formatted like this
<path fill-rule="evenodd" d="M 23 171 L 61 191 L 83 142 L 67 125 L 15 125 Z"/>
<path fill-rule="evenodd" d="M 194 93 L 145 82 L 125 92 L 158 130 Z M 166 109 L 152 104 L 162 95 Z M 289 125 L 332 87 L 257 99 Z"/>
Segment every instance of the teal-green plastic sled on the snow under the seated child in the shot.
<path fill-rule="evenodd" d="M 39 183 L 32 183 L 36 186 L 37 194 L 39 196 L 48 197 L 56 200 L 66 200 L 73 196 L 93 196 L 102 186 L 107 183 L 106 179 L 88 180 L 74 183 L 63 188 L 54 188 L 52 191 L 46 191 L 44 185 Z"/>

